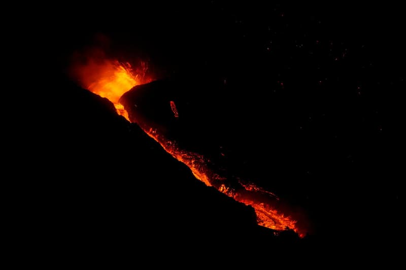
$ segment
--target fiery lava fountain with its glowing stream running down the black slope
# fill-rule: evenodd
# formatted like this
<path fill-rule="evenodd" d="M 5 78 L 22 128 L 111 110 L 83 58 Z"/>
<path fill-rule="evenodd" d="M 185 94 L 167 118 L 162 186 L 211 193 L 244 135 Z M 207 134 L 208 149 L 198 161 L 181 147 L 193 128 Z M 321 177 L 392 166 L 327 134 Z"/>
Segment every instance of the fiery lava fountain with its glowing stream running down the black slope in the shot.
<path fill-rule="evenodd" d="M 86 64 L 76 65 L 73 68 L 73 74 L 83 88 L 113 102 L 118 114 L 132 123 L 137 123 L 168 153 L 187 165 L 197 179 L 208 186 L 214 186 L 238 202 L 252 206 L 255 209 L 258 225 L 278 231 L 292 229 L 303 237 L 306 230 L 299 228 L 296 220 L 277 209 L 279 198 L 272 192 L 241 179 L 234 181 L 237 184 L 231 186 L 226 177 L 217 174 L 208 166 L 210 160 L 199 153 L 181 149 L 176 141 L 165 136 L 165 132 L 162 132 L 159 126 L 140 115 L 137 104 L 132 104 L 129 97 L 131 93 L 137 92 L 142 84 L 153 81 L 147 78 L 146 73 L 147 65 L 144 62 L 138 68 L 133 69 L 129 63 L 109 59 L 91 59 Z M 179 119 L 175 102 L 170 100 L 167 106 L 172 117 Z"/>

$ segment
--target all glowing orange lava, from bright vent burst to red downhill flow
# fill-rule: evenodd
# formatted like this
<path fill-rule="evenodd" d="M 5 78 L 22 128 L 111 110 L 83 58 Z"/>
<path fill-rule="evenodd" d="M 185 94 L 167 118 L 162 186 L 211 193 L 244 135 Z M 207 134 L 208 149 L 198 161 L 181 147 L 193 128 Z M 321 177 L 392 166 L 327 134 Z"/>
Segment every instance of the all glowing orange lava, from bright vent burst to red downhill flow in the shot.
<path fill-rule="evenodd" d="M 79 72 L 78 72 L 79 70 Z M 128 121 L 128 113 L 123 105 L 118 103 L 119 98 L 132 87 L 148 83 L 151 80 L 145 79 L 145 64 L 142 68 L 135 72 L 131 69 L 129 63 L 119 63 L 118 61 L 103 60 L 90 61 L 86 65 L 77 68 L 82 87 L 89 89 L 91 92 L 108 98 L 114 103 L 117 113 L 123 115 Z M 171 108 L 174 116 L 179 117 L 175 103 L 171 101 Z M 236 191 L 227 187 L 223 182 L 224 178 L 210 170 L 207 166 L 207 160 L 204 156 L 198 153 L 180 149 L 175 142 L 167 140 L 161 134 L 158 134 L 156 129 L 149 127 L 146 124 L 138 123 L 140 127 L 154 140 L 156 140 L 167 152 L 176 158 L 178 161 L 186 164 L 193 175 L 204 182 L 208 186 L 215 186 L 223 194 L 234 198 L 236 201 L 250 205 L 255 209 L 257 222 L 259 225 L 272 228 L 275 230 L 284 230 L 286 228 L 293 229 L 299 236 L 303 237 L 304 232 L 296 226 L 296 221 L 289 216 L 275 210 L 269 204 L 261 201 L 258 198 L 264 196 L 272 197 L 274 200 L 279 200 L 274 194 L 263 190 L 253 183 L 242 183 L 244 190 Z M 258 196 L 256 196 L 258 195 Z M 258 198 L 256 198 L 258 197 Z"/>

